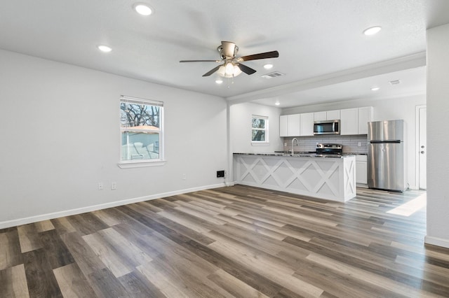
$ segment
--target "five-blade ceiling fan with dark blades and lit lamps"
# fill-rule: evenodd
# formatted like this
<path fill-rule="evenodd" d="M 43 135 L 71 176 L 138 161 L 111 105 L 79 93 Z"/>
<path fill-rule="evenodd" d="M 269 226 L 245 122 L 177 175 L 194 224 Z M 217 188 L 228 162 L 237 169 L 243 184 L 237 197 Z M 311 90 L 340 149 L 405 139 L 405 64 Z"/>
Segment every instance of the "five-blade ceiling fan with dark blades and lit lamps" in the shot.
<path fill-rule="evenodd" d="M 203 76 L 210 76 L 217 71 L 220 76 L 225 78 L 234 78 L 235 76 L 239 76 L 242 71 L 248 75 L 255 73 L 255 69 L 241 64 L 241 62 L 279 57 L 279 52 L 276 50 L 272 52 L 261 52 L 259 54 L 236 57 L 239 47 L 231 41 L 222 41 L 222 44 L 218 46 L 217 50 L 220 52 L 220 56 L 222 58 L 221 60 L 181 60 L 180 62 L 223 62 L 223 64 L 210 69 L 207 73 L 204 73 Z"/>

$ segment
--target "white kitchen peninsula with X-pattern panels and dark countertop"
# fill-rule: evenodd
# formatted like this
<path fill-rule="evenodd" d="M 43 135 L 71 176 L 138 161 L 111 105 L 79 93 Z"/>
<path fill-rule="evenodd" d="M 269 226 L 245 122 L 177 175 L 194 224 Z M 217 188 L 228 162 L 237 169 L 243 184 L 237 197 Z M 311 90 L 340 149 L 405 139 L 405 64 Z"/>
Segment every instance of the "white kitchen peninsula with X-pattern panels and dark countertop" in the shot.
<path fill-rule="evenodd" d="M 332 201 L 356 196 L 356 157 L 316 154 L 234 153 L 237 184 Z"/>

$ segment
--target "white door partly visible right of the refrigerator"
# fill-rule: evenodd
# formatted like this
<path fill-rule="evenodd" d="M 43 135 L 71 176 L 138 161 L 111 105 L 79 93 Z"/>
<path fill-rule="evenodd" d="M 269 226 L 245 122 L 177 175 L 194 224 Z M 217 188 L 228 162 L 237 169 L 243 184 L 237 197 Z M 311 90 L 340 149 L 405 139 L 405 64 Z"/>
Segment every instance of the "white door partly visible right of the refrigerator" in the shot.
<path fill-rule="evenodd" d="M 416 107 L 417 122 L 417 186 L 427 189 L 427 108 Z"/>

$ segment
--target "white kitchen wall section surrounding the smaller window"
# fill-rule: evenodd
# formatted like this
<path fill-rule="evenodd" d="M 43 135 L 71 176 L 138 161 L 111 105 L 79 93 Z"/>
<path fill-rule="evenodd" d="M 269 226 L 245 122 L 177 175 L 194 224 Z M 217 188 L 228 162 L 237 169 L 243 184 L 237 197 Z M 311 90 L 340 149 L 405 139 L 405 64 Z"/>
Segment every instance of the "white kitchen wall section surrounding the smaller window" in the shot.
<path fill-rule="evenodd" d="M 280 108 L 262 106 L 260 104 L 243 103 L 229 107 L 229 129 L 231 136 L 231 152 L 274 152 L 283 150 L 282 139 L 279 137 Z M 269 118 L 269 145 L 251 144 L 252 115 Z"/>

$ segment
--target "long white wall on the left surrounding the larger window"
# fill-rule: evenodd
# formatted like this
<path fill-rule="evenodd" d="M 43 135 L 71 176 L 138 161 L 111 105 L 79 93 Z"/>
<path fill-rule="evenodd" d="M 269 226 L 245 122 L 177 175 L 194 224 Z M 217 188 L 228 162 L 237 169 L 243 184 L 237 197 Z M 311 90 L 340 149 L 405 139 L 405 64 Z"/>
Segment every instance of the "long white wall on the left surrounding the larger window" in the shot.
<path fill-rule="evenodd" d="M 0 228 L 224 185 L 225 99 L 4 50 L 0 65 Z M 165 165 L 117 166 L 121 94 L 164 102 Z"/>

